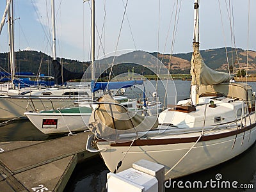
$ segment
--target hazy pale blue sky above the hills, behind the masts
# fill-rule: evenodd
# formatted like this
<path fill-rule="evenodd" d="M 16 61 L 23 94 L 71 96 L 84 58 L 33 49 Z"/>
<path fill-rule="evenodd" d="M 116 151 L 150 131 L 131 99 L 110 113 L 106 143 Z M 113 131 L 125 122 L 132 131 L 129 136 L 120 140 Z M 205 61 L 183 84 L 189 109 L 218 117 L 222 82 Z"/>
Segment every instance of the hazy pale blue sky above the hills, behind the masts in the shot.
<path fill-rule="evenodd" d="M 192 51 L 193 0 L 129 0 L 118 41 L 126 2 L 126 0 L 96 0 L 95 14 L 98 30 L 95 41 L 96 57 L 103 56 L 102 47 L 106 54 L 116 49 L 165 53 Z M 24 50 L 29 47 L 51 55 L 51 1 L 15 0 L 14 3 L 15 50 Z M 5 4 L 5 1 L 0 1 L 0 15 L 3 15 Z M 90 4 L 90 1 L 83 3 L 83 0 L 55 1 L 58 57 L 80 61 L 90 60 Z M 256 50 L 255 0 L 220 0 L 221 13 L 218 0 L 201 0 L 200 49 L 234 45 L 234 41 L 231 43 L 227 12 L 231 4 L 234 7 L 236 47 L 242 49 L 249 47 Z M 223 24 L 221 24 L 221 17 Z M 102 28 L 104 18 L 105 24 Z M 176 33 L 173 33 L 175 18 L 179 20 Z M 173 34 L 175 34 L 174 42 Z M 99 35 L 102 36 L 102 45 L 99 44 Z M 8 51 L 7 25 L 4 26 L 0 36 L 0 52 L 6 51 Z"/>

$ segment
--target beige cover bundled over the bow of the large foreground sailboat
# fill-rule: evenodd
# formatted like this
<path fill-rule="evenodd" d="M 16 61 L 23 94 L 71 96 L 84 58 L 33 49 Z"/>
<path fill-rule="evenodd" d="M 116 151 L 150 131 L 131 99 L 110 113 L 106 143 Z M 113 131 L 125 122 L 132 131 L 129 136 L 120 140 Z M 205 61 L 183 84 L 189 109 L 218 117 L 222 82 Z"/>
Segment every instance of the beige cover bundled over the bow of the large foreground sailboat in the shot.
<path fill-rule="evenodd" d="M 104 95 L 98 101 L 101 104 L 93 110 L 89 128 L 104 140 L 125 142 L 131 140 L 127 134 L 138 138 L 137 132 L 149 131 L 158 126 L 157 116 L 142 116 L 136 111 L 127 111 L 110 95 Z"/>

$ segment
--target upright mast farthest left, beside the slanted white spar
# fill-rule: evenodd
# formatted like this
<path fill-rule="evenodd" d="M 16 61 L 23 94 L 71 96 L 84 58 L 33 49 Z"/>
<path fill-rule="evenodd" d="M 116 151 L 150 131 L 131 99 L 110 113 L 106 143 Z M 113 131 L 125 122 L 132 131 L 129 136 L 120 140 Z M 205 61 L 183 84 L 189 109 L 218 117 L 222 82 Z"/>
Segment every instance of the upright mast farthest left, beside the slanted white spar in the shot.
<path fill-rule="evenodd" d="M 8 3 L 8 0 L 7 0 Z M 11 0 L 8 8 L 8 33 L 9 33 L 9 49 L 10 49 L 10 68 L 11 68 L 11 83 L 15 79 L 15 55 L 14 55 L 14 29 L 13 29 L 13 1 Z"/>

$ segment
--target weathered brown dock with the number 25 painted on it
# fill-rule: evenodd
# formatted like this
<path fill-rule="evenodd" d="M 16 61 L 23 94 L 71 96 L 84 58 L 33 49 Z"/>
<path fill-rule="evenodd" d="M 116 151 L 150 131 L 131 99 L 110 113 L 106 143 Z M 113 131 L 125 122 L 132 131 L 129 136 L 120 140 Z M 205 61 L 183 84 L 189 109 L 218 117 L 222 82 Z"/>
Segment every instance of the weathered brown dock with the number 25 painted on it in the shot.
<path fill-rule="evenodd" d="M 63 191 L 76 164 L 98 155 L 85 150 L 89 134 L 0 142 L 0 191 Z"/>

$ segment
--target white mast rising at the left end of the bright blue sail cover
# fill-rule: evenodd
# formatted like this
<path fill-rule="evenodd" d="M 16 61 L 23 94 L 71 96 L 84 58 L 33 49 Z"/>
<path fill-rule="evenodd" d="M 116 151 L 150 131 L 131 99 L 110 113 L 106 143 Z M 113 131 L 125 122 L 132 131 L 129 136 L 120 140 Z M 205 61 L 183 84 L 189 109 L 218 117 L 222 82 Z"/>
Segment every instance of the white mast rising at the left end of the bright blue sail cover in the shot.
<path fill-rule="evenodd" d="M 92 0 L 92 22 L 91 22 L 91 44 L 92 44 L 92 52 L 91 52 L 91 72 L 92 72 L 92 81 L 95 81 L 95 74 L 94 74 L 94 61 L 95 61 L 95 0 Z M 92 99 L 95 99 L 95 94 L 92 92 Z"/>

